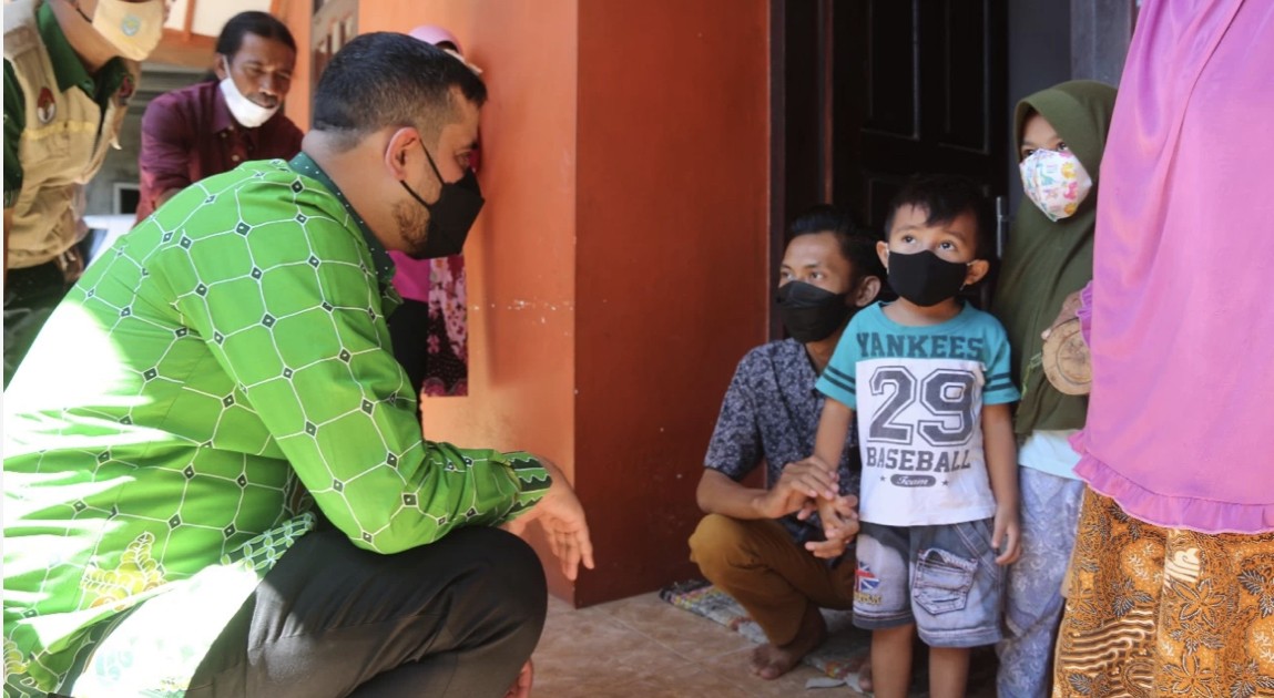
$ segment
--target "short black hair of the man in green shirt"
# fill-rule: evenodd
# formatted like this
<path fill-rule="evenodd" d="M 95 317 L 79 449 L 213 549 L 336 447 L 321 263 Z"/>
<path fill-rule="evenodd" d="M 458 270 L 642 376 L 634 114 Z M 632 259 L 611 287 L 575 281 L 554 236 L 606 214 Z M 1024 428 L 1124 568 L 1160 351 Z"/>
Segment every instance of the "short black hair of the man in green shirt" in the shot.
<path fill-rule="evenodd" d="M 386 126 L 413 126 L 433 138 L 459 118 L 452 88 L 482 107 L 487 85 L 431 43 L 394 32 L 359 34 L 333 56 L 315 89 L 313 130 L 353 146 Z"/>

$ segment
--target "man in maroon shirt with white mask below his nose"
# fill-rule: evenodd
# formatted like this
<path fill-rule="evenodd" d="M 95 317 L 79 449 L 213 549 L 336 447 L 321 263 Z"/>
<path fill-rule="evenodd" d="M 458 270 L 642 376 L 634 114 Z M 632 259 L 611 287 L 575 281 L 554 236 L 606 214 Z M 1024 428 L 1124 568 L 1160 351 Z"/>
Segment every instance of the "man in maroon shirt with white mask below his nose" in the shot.
<path fill-rule="evenodd" d="M 297 43 L 276 18 L 231 18 L 217 38 L 219 82 L 161 94 L 141 117 L 138 222 L 204 177 L 301 152 L 301 130 L 279 111 L 296 64 Z"/>

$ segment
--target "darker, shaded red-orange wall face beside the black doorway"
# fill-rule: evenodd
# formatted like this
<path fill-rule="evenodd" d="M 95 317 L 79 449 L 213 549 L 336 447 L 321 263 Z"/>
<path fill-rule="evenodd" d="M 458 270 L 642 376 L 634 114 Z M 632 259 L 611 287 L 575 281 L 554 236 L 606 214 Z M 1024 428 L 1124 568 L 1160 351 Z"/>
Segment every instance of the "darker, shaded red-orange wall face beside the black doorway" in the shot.
<path fill-rule="evenodd" d="M 766 340 L 764 0 L 580 4 L 576 483 L 587 605 L 696 573 L 721 397 Z"/>

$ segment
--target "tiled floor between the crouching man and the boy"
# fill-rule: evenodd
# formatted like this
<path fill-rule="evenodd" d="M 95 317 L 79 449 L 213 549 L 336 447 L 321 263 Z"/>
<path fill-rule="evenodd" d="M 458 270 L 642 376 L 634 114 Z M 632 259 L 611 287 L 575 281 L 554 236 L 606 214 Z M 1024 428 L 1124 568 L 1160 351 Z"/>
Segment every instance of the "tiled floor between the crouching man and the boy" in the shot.
<path fill-rule="evenodd" d="M 748 638 L 662 601 L 656 594 L 572 609 L 549 599 L 535 650 L 538 698 L 747 698 L 860 695 L 848 688 L 812 689 L 822 674 L 801 665 L 767 681 L 748 671 Z M 994 695 L 971 690 L 970 695 Z"/>

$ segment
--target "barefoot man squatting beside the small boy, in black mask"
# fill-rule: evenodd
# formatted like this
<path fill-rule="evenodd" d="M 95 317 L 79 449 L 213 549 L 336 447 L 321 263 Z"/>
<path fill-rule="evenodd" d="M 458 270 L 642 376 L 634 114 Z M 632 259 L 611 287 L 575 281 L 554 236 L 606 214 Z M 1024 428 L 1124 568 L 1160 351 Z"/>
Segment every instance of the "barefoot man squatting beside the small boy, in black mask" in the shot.
<path fill-rule="evenodd" d="M 820 606 L 854 605 L 857 566 L 846 552 L 852 540 L 824 540 L 818 517 L 803 509 L 819 493 L 852 501 L 859 450 L 845 448 L 834 481 L 796 462 L 814 447 L 823 405 L 814 382 L 850 317 L 875 301 L 884 278 L 875 242 L 850 229 L 848 218 L 831 206 L 792 223 L 778 281 L 778 312 L 791 339 L 758 346 L 739 362 L 697 493 L 707 516 L 691 538 L 691 558 L 766 630 L 769 643 L 752 659 L 753 673 L 766 679 L 823 642 Z M 761 465 L 768 487 L 743 485 Z"/>

